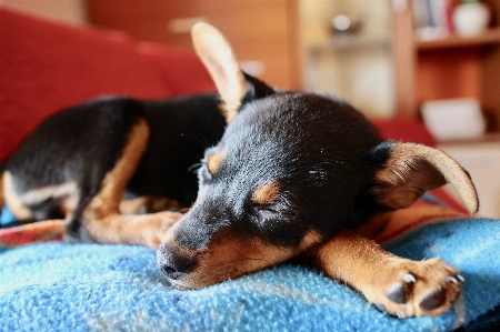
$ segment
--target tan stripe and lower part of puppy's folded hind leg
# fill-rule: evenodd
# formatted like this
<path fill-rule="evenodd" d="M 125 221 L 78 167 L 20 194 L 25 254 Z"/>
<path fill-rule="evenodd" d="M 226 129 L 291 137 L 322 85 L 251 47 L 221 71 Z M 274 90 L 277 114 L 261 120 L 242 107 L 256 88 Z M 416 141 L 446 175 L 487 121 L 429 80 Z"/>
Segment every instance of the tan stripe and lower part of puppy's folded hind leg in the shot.
<path fill-rule="evenodd" d="M 176 212 L 120 214 L 123 192 L 147 148 L 148 138 L 148 124 L 140 119 L 130 132 L 121 158 L 106 174 L 100 191 L 83 209 L 81 224 L 90 240 L 99 243 L 130 243 L 157 248 L 167 229 L 182 217 Z"/>

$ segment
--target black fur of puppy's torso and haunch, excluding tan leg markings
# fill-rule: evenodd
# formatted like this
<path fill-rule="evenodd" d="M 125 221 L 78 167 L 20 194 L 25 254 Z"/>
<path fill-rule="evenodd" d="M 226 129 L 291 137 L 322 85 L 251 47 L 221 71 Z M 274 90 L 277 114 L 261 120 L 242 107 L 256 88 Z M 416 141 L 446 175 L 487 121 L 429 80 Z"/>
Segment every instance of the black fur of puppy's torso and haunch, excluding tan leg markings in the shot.
<path fill-rule="evenodd" d="M 139 118 L 150 128 L 141 163 L 128 185 L 131 195 L 170 197 L 189 205 L 197 195 L 196 173 L 206 148 L 217 143 L 226 127 L 216 94 L 169 100 L 98 99 L 63 110 L 43 121 L 4 163 L 14 190 L 74 181 L 80 201 L 69 227 L 78 233 L 81 213 L 120 159 Z M 27 207 L 34 220 L 62 218 L 60 201 Z"/>

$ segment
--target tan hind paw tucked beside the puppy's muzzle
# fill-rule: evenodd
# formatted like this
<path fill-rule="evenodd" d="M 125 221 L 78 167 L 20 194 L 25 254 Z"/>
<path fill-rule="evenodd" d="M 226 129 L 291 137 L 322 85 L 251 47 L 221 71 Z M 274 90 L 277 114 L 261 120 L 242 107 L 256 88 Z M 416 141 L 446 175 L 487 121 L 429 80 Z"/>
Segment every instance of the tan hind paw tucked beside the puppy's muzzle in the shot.
<path fill-rule="evenodd" d="M 182 213 L 169 211 L 144 215 L 140 221 L 144 244 L 153 249 L 160 247 L 167 231 L 182 217 Z"/>

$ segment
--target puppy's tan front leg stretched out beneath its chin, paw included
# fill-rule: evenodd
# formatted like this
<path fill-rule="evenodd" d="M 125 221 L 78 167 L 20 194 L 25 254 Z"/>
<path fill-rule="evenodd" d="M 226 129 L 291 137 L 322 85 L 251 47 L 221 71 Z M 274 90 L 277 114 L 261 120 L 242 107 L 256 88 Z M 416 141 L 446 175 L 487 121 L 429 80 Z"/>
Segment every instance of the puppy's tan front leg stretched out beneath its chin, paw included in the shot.
<path fill-rule="evenodd" d="M 370 303 L 400 318 L 439 315 L 461 291 L 461 276 L 439 259 L 411 261 L 343 231 L 307 251 L 301 261 L 346 282 Z"/>

